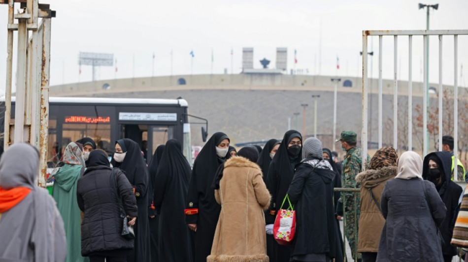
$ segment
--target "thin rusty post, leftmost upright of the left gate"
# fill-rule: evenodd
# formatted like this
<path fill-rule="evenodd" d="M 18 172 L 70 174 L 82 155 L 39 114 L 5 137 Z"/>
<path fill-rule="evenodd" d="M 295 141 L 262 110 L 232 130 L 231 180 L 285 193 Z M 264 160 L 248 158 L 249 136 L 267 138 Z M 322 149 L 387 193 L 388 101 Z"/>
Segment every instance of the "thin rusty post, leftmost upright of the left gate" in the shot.
<path fill-rule="evenodd" d="M 13 71 L 13 29 L 14 24 L 14 2 L 8 1 L 8 37 L 6 44 L 6 85 L 5 85 L 5 114 L 3 131 L 3 148 L 6 150 L 10 145 L 10 118 L 11 118 L 11 79 Z"/>

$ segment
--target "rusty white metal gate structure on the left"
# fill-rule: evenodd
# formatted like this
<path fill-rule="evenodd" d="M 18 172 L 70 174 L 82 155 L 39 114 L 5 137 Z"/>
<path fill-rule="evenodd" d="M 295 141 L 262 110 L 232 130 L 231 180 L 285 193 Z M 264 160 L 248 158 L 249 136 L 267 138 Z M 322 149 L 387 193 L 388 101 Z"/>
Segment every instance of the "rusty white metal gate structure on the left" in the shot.
<path fill-rule="evenodd" d="M 49 124 L 50 30 L 51 18 L 55 17 L 55 11 L 52 11 L 48 4 L 39 4 L 38 0 L 0 0 L 0 4 L 8 4 L 4 149 L 18 142 L 28 142 L 39 148 L 38 184 L 45 187 Z M 18 5 L 21 9 L 15 14 L 15 7 Z M 13 31 L 18 31 L 14 124 L 10 119 Z M 30 31 L 32 31 L 31 36 Z"/>

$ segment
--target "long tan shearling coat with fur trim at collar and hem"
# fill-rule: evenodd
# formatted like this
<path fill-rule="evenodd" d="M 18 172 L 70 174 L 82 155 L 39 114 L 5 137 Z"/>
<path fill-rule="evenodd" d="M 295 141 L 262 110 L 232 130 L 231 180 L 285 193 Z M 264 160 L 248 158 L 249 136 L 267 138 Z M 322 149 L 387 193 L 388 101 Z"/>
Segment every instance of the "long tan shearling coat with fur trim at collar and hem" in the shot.
<path fill-rule="evenodd" d="M 234 156 L 224 164 L 216 201 L 221 204 L 207 262 L 268 262 L 265 214 L 270 194 L 260 167 Z"/>

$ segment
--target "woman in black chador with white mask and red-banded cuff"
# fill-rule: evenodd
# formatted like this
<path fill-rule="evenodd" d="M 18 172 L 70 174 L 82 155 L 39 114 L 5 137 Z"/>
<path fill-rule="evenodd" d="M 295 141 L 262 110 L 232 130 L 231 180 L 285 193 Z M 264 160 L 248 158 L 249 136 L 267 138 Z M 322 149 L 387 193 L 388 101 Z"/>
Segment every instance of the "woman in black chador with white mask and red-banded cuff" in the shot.
<path fill-rule="evenodd" d="M 221 206 L 211 187 L 218 167 L 226 160 L 229 138 L 217 132 L 206 142 L 194 162 L 186 201 L 185 222 L 195 232 L 195 262 L 206 262 L 211 253 Z"/>

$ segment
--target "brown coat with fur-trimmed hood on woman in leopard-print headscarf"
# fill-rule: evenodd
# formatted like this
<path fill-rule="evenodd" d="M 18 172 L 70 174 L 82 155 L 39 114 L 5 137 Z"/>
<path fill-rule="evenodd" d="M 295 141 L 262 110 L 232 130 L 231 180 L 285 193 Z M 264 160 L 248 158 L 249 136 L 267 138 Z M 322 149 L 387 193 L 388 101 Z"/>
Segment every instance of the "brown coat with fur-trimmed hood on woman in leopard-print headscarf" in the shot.
<path fill-rule="evenodd" d="M 377 252 L 385 218 L 380 213 L 369 190 L 380 205 L 380 197 L 385 183 L 395 178 L 397 167 L 389 166 L 378 170 L 366 170 L 356 175 L 361 182 L 361 216 L 359 217 L 358 252 Z"/>

